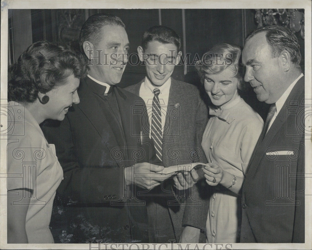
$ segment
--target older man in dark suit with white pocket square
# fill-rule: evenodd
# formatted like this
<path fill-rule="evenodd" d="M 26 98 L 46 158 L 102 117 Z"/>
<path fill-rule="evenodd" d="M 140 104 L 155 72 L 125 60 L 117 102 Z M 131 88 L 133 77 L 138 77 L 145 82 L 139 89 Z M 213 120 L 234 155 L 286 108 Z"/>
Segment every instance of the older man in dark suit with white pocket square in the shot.
<path fill-rule="evenodd" d="M 300 60 L 298 40 L 288 28 L 261 27 L 246 38 L 245 81 L 271 108 L 242 186 L 242 243 L 305 242 L 305 79 Z"/>

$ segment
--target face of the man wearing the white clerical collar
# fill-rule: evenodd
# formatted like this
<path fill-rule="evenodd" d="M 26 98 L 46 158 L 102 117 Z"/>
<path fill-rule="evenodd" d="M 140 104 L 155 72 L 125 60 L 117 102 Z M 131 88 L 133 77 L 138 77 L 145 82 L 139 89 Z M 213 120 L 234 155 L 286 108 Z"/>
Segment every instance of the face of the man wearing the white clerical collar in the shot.
<path fill-rule="evenodd" d="M 93 58 L 88 74 L 101 82 L 114 85 L 120 82 L 128 62 L 128 36 L 125 29 L 119 25 L 105 25 L 101 34 L 102 39 L 91 44 L 93 48 L 89 48 Z M 85 50 L 85 53 L 90 59 L 89 52 Z"/>

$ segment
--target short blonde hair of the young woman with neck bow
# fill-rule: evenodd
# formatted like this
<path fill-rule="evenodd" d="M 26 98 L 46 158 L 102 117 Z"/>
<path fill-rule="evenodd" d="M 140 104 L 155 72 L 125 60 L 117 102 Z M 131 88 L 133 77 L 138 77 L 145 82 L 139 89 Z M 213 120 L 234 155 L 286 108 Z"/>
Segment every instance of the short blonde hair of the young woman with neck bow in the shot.
<path fill-rule="evenodd" d="M 236 44 L 221 43 L 213 46 L 195 65 L 202 84 L 204 84 L 205 74 L 218 74 L 227 68 L 230 68 L 238 79 L 237 89 L 246 90 L 241 65 L 241 47 Z"/>

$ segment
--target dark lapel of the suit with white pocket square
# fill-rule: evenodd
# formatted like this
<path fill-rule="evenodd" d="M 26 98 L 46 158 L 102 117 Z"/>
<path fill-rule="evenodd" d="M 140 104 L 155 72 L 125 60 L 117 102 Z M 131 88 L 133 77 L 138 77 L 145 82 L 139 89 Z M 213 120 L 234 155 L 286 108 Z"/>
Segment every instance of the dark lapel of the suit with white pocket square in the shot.
<path fill-rule="evenodd" d="M 275 136 L 280 131 L 281 127 L 285 126 L 285 121 L 287 120 L 287 117 L 289 116 L 289 114 L 286 114 L 286 106 L 288 106 L 290 102 L 297 101 L 300 95 L 302 94 L 302 92 L 304 92 L 304 90 L 305 90 L 305 78 L 303 76 L 298 80 L 298 82 L 295 84 L 295 86 L 291 90 L 283 107 L 281 108 L 280 112 L 278 113 L 277 117 L 272 123 L 263 141 L 261 142 L 261 138 L 259 138 L 255 147 L 255 150 L 251 156 L 252 160 L 248 167 L 249 176 L 255 173 L 258 165 L 260 164 L 261 158 L 265 156 L 266 149 L 268 148 L 269 145 L 271 145 L 272 140 L 276 139 Z M 298 103 L 298 104 L 300 105 L 301 103 Z"/>

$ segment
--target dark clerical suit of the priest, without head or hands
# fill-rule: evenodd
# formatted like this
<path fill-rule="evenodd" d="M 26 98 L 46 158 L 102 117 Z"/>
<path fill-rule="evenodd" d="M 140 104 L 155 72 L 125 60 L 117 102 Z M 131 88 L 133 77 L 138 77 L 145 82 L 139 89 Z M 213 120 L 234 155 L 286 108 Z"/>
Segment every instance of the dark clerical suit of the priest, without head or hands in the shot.
<path fill-rule="evenodd" d="M 131 113 L 135 104 L 141 113 L 146 107 L 124 89 L 112 86 L 104 95 L 105 89 L 88 77 L 81 79 L 80 103 L 59 126 L 42 126 L 64 171 L 50 225 L 56 242 L 148 241 L 141 226 L 146 207 L 133 199 L 139 189 L 124 181 L 124 167 L 149 162 L 154 155 L 154 146 L 142 136 L 142 116 Z"/>

